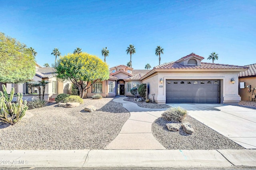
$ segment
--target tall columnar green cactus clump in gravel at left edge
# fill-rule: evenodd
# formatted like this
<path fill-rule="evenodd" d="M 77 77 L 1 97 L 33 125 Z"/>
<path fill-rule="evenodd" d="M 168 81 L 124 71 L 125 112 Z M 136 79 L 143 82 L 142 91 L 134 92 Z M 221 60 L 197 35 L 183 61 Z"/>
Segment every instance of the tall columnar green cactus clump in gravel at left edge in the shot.
<path fill-rule="evenodd" d="M 18 93 L 16 104 L 12 103 L 14 96 L 14 88 L 12 88 L 10 97 L 8 96 L 6 86 L 2 85 L 2 91 L 0 91 L 0 121 L 14 125 L 25 115 L 28 109 L 27 101 L 23 102 L 22 94 Z"/>

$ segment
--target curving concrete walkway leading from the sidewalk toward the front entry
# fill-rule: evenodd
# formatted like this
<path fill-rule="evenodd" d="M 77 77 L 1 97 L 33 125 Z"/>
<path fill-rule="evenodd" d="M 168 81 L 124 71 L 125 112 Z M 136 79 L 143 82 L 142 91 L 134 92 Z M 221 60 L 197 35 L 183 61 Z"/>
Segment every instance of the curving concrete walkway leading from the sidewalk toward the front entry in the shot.
<path fill-rule="evenodd" d="M 126 97 L 113 101 L 122 103 L 130 112 L 130 118 L 124 123 L 118 136 L 104 149 L 165 149 L 152 135 L 151 125 L 166 109 L 148 109 L 133 102 L 126 102 Z"/>

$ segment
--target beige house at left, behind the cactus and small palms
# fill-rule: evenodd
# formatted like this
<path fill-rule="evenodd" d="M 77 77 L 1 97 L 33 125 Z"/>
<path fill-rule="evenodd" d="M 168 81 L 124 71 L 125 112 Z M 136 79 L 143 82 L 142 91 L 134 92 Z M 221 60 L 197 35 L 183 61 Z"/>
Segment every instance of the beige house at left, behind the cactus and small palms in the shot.
<path fill-rule="evenodd" d="M 37 84 L 38 81 L 42 81 L 42 80 L 49 82 L 45 88 L 44 100 L 54 99 L 58 94 L 62 94 L 62 93 L 71 94 L 71 82 L 61 82 L 57 80 L 55 68 L 42 67 L 39 64 L 36 64 L 36 75 L 32 78 L 32 80 L 29 80 L 28 82 L 23 84 L 8 84 L 8 83 L 6 84 L 5 83 L 5 85 L 8 92 L 10 92 L 11 88 L 14 87 L 15 93 L 39 94 L 38 88 L 32 87 L 32 85 Z M 2 90 L 2 85 L 0 90 Z M 42 98 L 42 90 L 43 89 L 41 88 L 41 98 Z"/>

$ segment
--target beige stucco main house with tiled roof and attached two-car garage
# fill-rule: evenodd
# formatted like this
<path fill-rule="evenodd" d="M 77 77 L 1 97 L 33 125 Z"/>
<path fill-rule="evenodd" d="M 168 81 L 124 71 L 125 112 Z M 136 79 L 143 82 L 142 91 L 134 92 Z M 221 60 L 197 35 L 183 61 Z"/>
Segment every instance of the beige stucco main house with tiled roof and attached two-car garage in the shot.
<path fill-rule="evenodd" d="M 152 70 L 134 70 L 118 65 L 110 68 L 110 78 L 98 81 L 86 96 L 132 96 L 130 89 L 145 83 L 148 98 L 158 104 L 223 103 L 238 104 L 238 73 L 246 66 L 202 63 L 204 57 L 191 53 L 178 61 L 161 64 Z M 234 81 L 231 81 L 234 80 Z"/>

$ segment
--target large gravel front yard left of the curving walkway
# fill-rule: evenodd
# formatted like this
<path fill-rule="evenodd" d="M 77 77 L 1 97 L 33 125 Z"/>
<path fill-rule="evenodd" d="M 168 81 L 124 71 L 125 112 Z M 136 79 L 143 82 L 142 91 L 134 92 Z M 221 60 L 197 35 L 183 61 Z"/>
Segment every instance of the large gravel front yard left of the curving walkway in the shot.
<path fill-rule="evenodd" d="M 74 108 L 55 103 L 28 110 L 33 117 L 13 126 L 0 123 L 0 149 L 104 149 L 130 117 L 122 104 L 112 99 L 84 99 L 84 104 Z M 83 111 L 88 105 L 97 111 Z"/>

